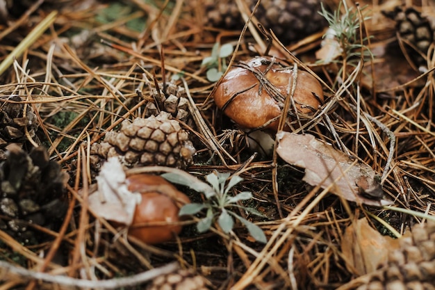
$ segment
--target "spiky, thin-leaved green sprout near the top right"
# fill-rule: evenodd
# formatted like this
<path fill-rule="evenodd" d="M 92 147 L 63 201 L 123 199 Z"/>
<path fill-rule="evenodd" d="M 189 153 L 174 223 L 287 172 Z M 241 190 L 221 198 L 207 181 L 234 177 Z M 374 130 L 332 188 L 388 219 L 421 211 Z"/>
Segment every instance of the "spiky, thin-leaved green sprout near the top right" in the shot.
<path fill-rule="evenodd" d="M 341 56 L 339 59 L 330 61 L 343 63 L 338 75 L 345 72 L 347 65 L 356 67 L 361 59 L 363 61 L 368 61 L 372 58 L 372 52 L 366 45 L 364 45 L 364 43 L 368 41 L 368 38 L 360 38 L 361 22 L 370 19 L 370 17 L 367 16 L 363 16 L 362 19 L 360 19 L 360 12 L 362 12 L 367 6 L 352 11 L 352 8 L 347 7 L 346 2 L 343 0 L 338 4 L 338 8 L 334 13 L 330 13 L 325 6 L 323 6 L 323 3 L 320 4 L 322 6 L 322 11 L 319 12 L 319 14 L 325 17 L 329 25 L 329 29 L 327 33 L 323 35 L 323 38 L 334 38 L 334 42 L 338 49 L 338 51 L 336 51 L 338 52 L 337 56 Z M 343 14 L 340 13 L 342 4 L 344 8 Z"/>

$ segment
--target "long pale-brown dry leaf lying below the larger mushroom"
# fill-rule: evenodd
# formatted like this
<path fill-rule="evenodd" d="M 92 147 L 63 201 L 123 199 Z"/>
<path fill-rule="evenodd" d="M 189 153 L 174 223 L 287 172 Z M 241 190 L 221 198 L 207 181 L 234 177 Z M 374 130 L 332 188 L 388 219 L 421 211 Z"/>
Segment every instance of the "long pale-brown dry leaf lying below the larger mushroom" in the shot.
<path fill-rule="evenodd" d="M 359 204 L 384 206 L 383 191 L 375 170 L 358 163 L 331 145 L 310 134 L 279 131 L 277 153 L 284 161 L 305 168 L 302 180 L 312 186 L 327 188 L 341 198 Z"/>

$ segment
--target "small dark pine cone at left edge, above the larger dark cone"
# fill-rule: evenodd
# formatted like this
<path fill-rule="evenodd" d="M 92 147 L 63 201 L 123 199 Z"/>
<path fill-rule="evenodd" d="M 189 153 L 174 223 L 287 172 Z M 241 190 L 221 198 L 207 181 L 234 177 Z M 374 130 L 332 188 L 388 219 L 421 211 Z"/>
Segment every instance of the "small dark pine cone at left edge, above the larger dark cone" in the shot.
<path fill-rule="evenodd" d="M 0 148 L 10 143 L 21 145 L 26 143 L 26 130 L 31 138 L 35 138 L 38 122 L 32 107 L 28 105 L 26 115 L 24 115 L 24 104 L 21 97 L 17 95 L 8 98 L 1 97 L 0 101 Z"/>

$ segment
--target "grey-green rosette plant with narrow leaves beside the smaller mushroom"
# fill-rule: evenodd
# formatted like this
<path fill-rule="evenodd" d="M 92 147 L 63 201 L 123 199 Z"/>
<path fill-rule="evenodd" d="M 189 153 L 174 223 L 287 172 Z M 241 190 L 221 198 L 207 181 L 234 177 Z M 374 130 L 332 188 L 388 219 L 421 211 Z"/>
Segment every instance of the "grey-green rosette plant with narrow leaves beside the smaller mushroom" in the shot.
<path fill-rule="evenodd" d="M 251 234 L 256 241 L 266 243 L 266 236 L 260 227 L 231 211 L 231 207 L 238 207 L 249 212 L 250 214 L 263 216 L 256 209 L 252 209 L 251 207 L 243 207 L 237 204 L 238 201 L 250 200 L 252 198 L 252 193 L 249 191 L 243 191 L 235 196 L 229 195 L 230 189 L 243 180 L 243 178 L 239 177 L 238 175 L 234 175 L 231 178 L 229 178 L 229 176 L 229 173 L 220 172 L 213 172 L 207 175 L 206 181 L 211 185 L 212 190 L 202 191 L 206 197 L 206 202 L 192 202 L 190 204 L 186 204 L 181 207 L 179 215 L 195 215 L 199 214 L 199 212 L 203 209 L 206 209 L 206 216 L 197 223 L 198 232 L 208 231 L 213 222 L 217 221 L 217 224 L 225 234 L 231 232 L 234 227 L 234 218 L 236 218 L 240 220 L 243 225 L 245 225 L 249 231 L 249 234 Z M 192 184 L 192 180 L 184 179 L 175 173 L 165 173 L 162 175 L 162 177 L 172 183 L 188 186 L 192 189 L 204 188 L 204 186 L 198 186 L 198 184 L 195 183 Z M 225 186 L 227 181 L 228 184 Z M 198 179 L 197 182 L 201 181 Z M 208 184 L 206 184 L 206 186 L 208 186 Z"/>

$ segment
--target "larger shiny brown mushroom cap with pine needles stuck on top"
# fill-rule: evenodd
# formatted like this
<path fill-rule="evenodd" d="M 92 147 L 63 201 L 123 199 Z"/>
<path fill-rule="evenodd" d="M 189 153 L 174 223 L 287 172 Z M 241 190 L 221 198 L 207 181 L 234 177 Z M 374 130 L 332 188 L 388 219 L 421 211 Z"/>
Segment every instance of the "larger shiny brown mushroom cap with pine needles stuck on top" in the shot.
<path fill-rule="evenodd" d="M 233 65 L 213 97 L 225 115 L 241 127 L 276 132 L 279 120 L 270 120 L 281 114 L 292 84 L 291 67 L 274 58 L 257 56 Z M 298 70 L 293 99 L 298 112 L 313 113 L 323 102 L 322 85 L 308 72 Z"/>

